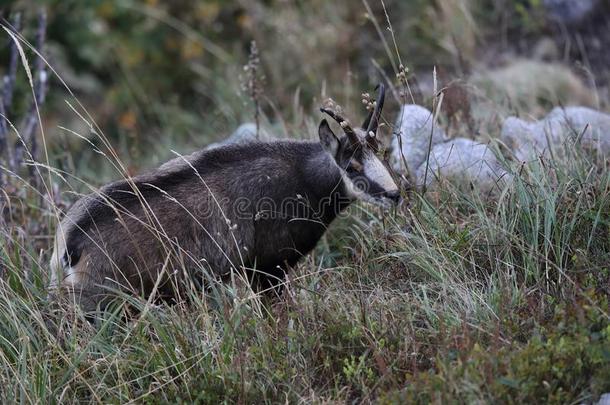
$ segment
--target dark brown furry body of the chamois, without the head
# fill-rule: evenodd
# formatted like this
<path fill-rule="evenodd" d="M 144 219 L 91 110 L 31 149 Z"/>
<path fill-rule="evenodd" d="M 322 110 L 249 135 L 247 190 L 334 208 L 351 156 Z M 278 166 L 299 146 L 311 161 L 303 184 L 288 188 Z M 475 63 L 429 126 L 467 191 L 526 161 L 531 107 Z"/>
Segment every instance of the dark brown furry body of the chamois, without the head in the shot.
<path fill-rule="evenodd" d="M 59 267 L 78 267 L 81 302 L 97 303 L 101 286 L 150 293 L 163 269 L 192 277 L 256 266 L 281 278 L 350 201 L 319 143 L 230 145 L 166 167 L 103 187 L 62 221 Z M 234 204 L 246 199 L 238 215 Z"/>

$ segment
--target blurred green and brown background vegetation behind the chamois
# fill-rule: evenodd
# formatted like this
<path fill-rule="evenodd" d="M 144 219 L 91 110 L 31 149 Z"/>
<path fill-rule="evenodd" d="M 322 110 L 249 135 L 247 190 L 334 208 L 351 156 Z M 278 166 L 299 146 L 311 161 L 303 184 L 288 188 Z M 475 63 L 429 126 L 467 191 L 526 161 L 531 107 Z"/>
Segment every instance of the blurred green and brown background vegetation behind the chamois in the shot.
<path fill-rule="evenodd" d="M 260 51 L 263 125 L 276 136 L 311 136 L 308 119 L 317 119 L 323 98 L 357 108 L 359 94 L 392 81 L 400 63 L 420 103 L 432 96 L 434 67 L 440 86 L 466 83 L 457 98 L 446 94 L 447 115 L 470 114 L 476 100 L 494 102 L 491 110 L 476 109 L 471 136 L 493 131 L 490 116 L 520 108 L 536 114 L 542 111 L 532 107 L 540 104 L 600 104 L 589 94 L 599 93 L 591 78 L 602 91 L 609 78 L 607 53 L 597 51 L 608 42 L 607 30 L 599 32 L 607 28 L 607 13 L 566 30 L 548 17 L 542 0 L 47 0 L 5 2 L 0 12 L 8 21 L 21 12 L 23 34 L 33 41 L 39 7 L 49 15 L 44 54 L 50 65 L 132 170 L 171 157 L 170 149 L 186 152 L 225 138 L 253 119 L 243 70 L 253 40 Z M 0 74 L 8 42 L 3 36 Z M 508 78 L 489 73 L 519 58 L 536 62 Z M 532 89 L 544 87 L 540 82 L 549 76 L 556 82 Z M 507 80 L 519 82 L 508 95 L 497 91 Z M 23 69 L 19 92 L 30 92 Z M 27 108 L 25 97 L 15 99 L 23 100 L 16 112 Z M 69 99 L 52 78 L 43 111 L 48 136 L 57 140 L 50 142 L 52 156 L 99 179 L 91 148 L 58 129 L 91 138 Z M 506 109 L 498 111 L 498 103 Z M 398 103 L 388 104 L 389 114 L 396 111 Z"/>

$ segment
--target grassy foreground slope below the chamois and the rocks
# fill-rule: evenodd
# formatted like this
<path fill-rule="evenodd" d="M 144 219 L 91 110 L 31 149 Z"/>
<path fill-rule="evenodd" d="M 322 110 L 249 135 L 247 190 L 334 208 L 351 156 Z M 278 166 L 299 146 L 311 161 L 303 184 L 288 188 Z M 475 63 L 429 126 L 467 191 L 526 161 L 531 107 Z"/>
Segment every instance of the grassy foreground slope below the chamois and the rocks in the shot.
<path fill-rule="evenodd" d="M 593 169 L 575 154 L 493 201 L 445 184 L 387 216 L 354 206 L 271 304 L 229 284 L 54 317 L 37 252 L 4 241 L 2 400 L 593 400 L 610 390 L 610 173 Z"/>

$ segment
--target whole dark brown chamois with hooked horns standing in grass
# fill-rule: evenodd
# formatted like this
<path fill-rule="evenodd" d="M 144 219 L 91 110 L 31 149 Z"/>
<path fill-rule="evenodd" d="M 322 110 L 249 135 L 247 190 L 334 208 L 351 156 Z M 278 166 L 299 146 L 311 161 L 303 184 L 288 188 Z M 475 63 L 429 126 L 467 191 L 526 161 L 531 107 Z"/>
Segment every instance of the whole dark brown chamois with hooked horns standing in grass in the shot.
<path fill-rule="evenodd" d="M 78 200 L 58 225 L 52 294 L 85 311 L 112 290 L 175 297 L 204 274 L 241 271 L 276 286 L 351 202 L 388 205 L 400 192 L 376 156 L 384 87 L 362 128 L 332 109 L 319 142 L 226 145 L 179 157 Z"/>

